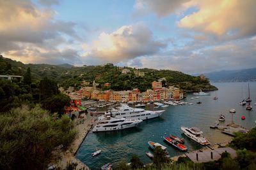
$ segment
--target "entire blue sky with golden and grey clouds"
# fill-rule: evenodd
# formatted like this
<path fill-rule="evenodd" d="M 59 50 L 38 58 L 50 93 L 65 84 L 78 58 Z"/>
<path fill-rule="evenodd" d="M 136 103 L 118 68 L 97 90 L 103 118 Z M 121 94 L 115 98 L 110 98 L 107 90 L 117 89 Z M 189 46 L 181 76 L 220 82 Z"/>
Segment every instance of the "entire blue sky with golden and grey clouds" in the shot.
<path fill-rule="evenodd" d="M 28 63 L 256 66 L 255 0 L 1 0 L 0 53 Z"/>

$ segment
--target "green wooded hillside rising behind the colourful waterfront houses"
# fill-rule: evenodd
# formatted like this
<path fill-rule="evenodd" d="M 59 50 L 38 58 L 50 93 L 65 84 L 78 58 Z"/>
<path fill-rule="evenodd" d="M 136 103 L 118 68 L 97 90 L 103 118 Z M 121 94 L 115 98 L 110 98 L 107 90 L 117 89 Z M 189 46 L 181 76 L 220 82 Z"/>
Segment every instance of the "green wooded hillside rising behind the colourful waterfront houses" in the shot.
<path fill-rule="evenodd" d="M 191 76 L 184 74 L 180 71 L 171 70 L 156 70 L 156 69 L 134 69 L 125 67 L 130 70 L 128 74 L 122 74 L 121 67 L 114 66 L 113 64 L 106 64 L 104 66 L 83 66 L 83 67 L 70 67 L 69 64 L 61 66 L 54 66 L 50 64 L 23 64 L 15 60 L 0 58 L 0 74 L 17 74 L 24 76 L 26 69 L 31 68 L 31 76 L 34 81 L 40 80 L 47 76 L 54 79 L 62 87 L 67 89 L 70 86 L 79 89 L 82 81 L 90 82 L 92 85 L 93 80 L 99 83 L 99 88 L 103 90 L 131 90 L 138 88 L 142 92 L 151 89 L 152 81 L 157 81 L 159 78 L 166 78 L 163 85 L 175 85 L 188 92 L 202 90 L 216 90 L 208 80 L 201 81 L 198 76 Z M 65 67 L 66 66 L 66 67 Z M 145 76 L 136 76 L 134 71 L 141 71 Z M 104 87 L 104 83 L 111 83 L 110 87 Z"/>

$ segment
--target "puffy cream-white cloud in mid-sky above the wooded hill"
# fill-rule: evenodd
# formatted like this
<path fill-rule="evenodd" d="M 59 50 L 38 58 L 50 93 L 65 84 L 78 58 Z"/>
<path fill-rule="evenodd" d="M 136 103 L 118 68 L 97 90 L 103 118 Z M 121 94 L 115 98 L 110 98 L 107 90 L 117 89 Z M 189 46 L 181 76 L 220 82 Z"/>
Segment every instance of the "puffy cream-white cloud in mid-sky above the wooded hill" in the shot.
<path fill-rule="evenodd" d="M 85 62 L 117 63 L 152 55 L 164 47 L 166 44 L 155 40 L 145 25 L 125 25 L 111 34 L 102 32 L 97 40 L 85 46 L 83 56 Z"/>

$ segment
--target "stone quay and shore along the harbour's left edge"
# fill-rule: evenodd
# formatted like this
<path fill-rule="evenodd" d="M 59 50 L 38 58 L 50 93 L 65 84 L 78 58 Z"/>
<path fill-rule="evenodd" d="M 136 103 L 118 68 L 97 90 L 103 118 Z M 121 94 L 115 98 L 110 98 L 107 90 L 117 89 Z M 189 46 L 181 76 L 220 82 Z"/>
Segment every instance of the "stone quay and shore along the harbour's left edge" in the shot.
<path fill-rule="evenodd" d="M 60 167 L 61 169 L 65 169 L 68 164 L 77 164 L 76 169 L 90 169 L 86 164 L 81 162 L 79 159 L 76 158 L 76 153 L 79 150 L 79 147 L 83 143 L 84 139 L 86 138 L 88 132 L 92 128 L 93 123 L 95 120 L 90 114 L 84 115 L 84 118 L 81 118 L 76 121 L 75 129 L 77 131 L 76 138 L 71 143 L 65 151 L 55 151 L 52 154 L 51 163 L 49 164 L 54 165 L 56 167 Z"/>

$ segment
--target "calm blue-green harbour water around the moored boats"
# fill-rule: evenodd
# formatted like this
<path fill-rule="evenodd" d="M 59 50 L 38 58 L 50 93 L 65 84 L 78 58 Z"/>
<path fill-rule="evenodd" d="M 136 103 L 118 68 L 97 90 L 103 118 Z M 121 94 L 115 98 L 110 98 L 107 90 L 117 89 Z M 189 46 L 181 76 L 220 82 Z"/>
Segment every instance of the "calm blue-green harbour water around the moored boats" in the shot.
<path fill-rule="evenodd" d="M 220 114 L 226 116 L 225 124 L 230 123 L 230 108 L 236 109 L 234 115 L 236 124 L 241 124 L 248 129 L 255 127 L 256 82 L 250 82 L 250 98 L 254 111 L 247 111 L 245 106 L 239 105 L 243 98 L 248 97 L 248 83 L 214 83 L 214 85 L 219 89 L 217 91 L 218 100 L 212 99 L 215 92 L 211 92 L 211 96 L 202 96 L 200 99 L 191 99 L 194 96 L 188 95 L 184 101 L 193 103 L 193 105 L 169 106 L 165 108 L 166 111 L 161 117 L 142 122 L 138 127 L 120 132 L 90 132 L 84 139 L 76 157 L 91 169 L 100 169 L 102 165 L 108 162 L 113 163 L 114 166 L 118 165 L 120 160 L 129 162 L 134 154 L 138 155 L 144 163 L 148 163 L 151 161 L 145 155 L 148 152 L 148 141 L 167 146 L 171 156 L 180 155 L 182 152 L 163 142 L 163 136 L 168 136 L 168 134 L 184 138 L 189 151 L 202 148 L 182 134 L 181 125 L 199 127 L 211 143 L 222 143 L 230 139 L 230 136 L 221 134 L 218 130 L 210 129 L 209 126 L 218 120 Z M 202 104 L 196 104 L 198 101 L 201 101 Z M 246 120 L 241 120 L 243 115 Z M 91 153 L 99 149 L 102 150 L 100 155 L 91 157 Z"/>

